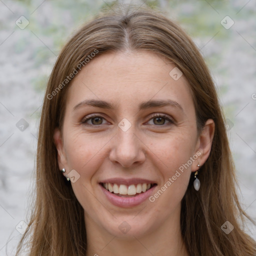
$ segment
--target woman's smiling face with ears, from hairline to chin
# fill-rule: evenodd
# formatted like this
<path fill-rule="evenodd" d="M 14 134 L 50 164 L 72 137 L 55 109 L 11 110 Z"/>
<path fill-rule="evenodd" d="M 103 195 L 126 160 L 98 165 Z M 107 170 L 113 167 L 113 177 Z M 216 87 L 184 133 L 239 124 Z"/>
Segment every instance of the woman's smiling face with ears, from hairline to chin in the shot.
<path fill-rule="evenodd" d="M 86 226 L 141 237 L 179 225 L 181 199 L 191 171 L 208 156 L 213 124 L 197 134 L 188 81 L 173 79 L 174 67 L 154 53 L 107 53 L 73 79 L 54 140 Z"/>

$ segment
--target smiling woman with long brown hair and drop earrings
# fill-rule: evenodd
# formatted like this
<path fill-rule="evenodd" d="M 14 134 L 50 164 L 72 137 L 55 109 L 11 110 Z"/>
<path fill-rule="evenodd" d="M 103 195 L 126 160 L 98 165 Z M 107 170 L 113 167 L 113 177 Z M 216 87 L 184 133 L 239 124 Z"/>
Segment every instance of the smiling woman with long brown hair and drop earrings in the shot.
<path fill-rule="evenodd" d="M 108 11 L 64 46 L 36 175 L 17 255 L 256 254 L 209 71 L 156 11 Z"/>

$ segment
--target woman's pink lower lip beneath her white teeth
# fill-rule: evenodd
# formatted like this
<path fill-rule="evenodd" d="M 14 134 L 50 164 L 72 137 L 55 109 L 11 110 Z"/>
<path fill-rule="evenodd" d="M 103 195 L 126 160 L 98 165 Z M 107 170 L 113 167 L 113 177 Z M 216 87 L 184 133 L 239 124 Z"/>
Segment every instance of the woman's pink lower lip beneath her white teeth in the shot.
<path fill-rule="evenodd" d="M 114 193 L 110 193 L 108 190 L 106 190 L 102 185 L 99 184 L 101 187 L 101 190 L 107 197 L 107 199 L 114 205 L 119 206 L 119 207 L 132 207 L 132 206 L 137 206 L 143 201 L 145 201 L 152 193 L 153 190 L 155 189 L 156 185 L 151 187 L 150 189 L 146 190 L 145 192 L 141 192 L 140 194 L 132 197 L 122 197 L 119 195 L 116 195 Z"/>

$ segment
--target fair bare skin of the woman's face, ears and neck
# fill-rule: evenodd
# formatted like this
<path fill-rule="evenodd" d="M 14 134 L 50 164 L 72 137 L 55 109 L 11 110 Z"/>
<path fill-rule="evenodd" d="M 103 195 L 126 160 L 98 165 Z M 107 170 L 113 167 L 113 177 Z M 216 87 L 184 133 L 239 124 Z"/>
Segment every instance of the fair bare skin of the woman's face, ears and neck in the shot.
<path fill-rule="evenodd" d="M 174 67 L 150 52 L 107 53 L 92 59 L 72 80 L 63 127 L 55 129 L 54 141 L 59 169 L 80 175 L 71 185 L 84 209 L 86 256 L 188 255 L 179 226 L 181 199 L 191 172 L 209 155 L 214 122 L 208 119 L 198 135 L 188 81 L 183 75 L 172 79 Z M 73 110 L 85 99 L 105 100 L 115 108 L 84 105 Z M 139 110 L 149 99 L 171 99 L 183 110 L 171 105 Z M 93 113 L 103 118 L 82 123 Z M 158 124 L 151 116 L 157 113 L 174 122 L 163 118 Z M 126 131 L 118 127 L 123 118 L 131 124 Z M 154 180 L 157 191 L 198 151 L 200 156 L 153 202 L 118 207 L 99 187 L 106 178 L 140 177 Z M 130 226 L 126 233 L 118 228 L 123 221 Z"/>

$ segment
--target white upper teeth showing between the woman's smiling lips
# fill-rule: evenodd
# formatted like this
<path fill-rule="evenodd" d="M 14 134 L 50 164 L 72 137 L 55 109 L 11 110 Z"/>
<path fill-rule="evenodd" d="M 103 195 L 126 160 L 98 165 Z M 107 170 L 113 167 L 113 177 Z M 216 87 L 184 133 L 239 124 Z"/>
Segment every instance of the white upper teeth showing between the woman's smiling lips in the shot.
<path fill-rule="evenodd" d="M 149 190 L 153 186 L 156 186 L 156 183 L 138 183 L 138 184 L 116 184 L 116 183 L 99 183 L 110 193 L 114 193 L 115 195 L 121 197 L 134 197 L 138 194 L 144 193 Z"/>

